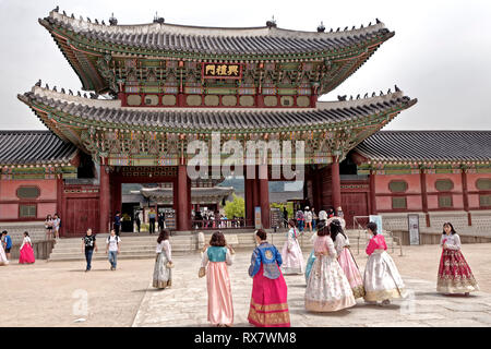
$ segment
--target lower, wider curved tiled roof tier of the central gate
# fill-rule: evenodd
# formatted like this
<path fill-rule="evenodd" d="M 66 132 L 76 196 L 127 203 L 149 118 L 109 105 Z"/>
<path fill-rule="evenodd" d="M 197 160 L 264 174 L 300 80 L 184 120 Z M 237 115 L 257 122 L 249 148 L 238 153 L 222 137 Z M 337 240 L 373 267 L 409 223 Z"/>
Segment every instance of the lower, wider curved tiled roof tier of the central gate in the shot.
<path fill-rule="evenodd" d="M 239 109 L 239 108 L 130 108 L 120 107 L 120 100 L 89 99 L 52 92 L 35 86 L 19 95 L 19 99 L 33 106 L 46 106 L 82 121 L 105 124 L 141 125 L 181 130 L 258 130 L 316 127 L 406 109 L 417 99 L 404 96 L 402 91 L 355 100 L 319 101 L 312 109 Z"/>

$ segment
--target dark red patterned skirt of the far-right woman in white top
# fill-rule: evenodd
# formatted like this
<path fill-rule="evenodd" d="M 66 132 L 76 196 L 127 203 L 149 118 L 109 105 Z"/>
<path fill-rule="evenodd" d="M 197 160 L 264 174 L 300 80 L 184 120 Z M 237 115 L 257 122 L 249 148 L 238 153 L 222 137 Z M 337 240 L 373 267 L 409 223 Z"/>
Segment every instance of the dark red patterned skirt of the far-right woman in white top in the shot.
<path fill-rule="evenodd" d="M 479 290 L 479 286 L 459 250 L 443 250 L 440 258 L 436 291 L 465 293 Z"/>

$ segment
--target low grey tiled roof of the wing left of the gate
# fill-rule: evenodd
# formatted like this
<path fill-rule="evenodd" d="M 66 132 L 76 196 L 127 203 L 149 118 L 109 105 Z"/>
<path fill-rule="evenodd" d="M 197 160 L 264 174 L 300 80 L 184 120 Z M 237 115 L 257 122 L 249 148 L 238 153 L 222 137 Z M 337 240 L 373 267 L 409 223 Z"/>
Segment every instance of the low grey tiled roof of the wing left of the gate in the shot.
<path fill-rule="evenodd" d="M 68 164 L 76 152 L 51 131 L 0 131 L 0 165 Z"/>

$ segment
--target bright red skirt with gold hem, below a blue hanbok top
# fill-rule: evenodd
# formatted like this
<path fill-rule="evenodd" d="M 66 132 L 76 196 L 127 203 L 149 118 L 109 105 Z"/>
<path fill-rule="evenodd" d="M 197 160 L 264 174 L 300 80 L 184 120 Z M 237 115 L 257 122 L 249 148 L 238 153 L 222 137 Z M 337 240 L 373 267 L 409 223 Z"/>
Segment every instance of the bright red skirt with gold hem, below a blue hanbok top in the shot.
<path fill-rule="evenodd" d="M 276 279 L 264 276 L 263 265 L 252 279 L 248 321 L 256 327 L 290 327 L 288 289 L 282 272 Z"/>

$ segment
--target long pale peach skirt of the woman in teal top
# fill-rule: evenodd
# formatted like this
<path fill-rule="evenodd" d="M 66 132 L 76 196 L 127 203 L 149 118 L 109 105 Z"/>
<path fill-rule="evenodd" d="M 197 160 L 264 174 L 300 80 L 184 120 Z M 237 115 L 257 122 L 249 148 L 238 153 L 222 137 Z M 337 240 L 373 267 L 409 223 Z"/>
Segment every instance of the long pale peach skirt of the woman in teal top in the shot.
<path fill-rule="evenodd" d="M 208 262 L 206 286 L 208 290 L 208 322 L 213 325 L 231 325 L 233 323 L 233 305 L 230 277 L 225 262 Z"/>

